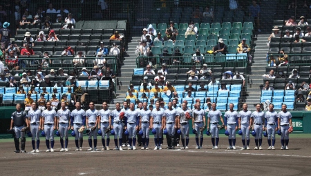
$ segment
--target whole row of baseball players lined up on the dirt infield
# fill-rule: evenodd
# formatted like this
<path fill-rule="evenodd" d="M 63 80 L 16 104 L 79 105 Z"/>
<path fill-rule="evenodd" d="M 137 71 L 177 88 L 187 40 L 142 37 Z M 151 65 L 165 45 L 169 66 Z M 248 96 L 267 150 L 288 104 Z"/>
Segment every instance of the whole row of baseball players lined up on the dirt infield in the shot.
<path fill-rule="evenodd" d="M 87 151 L 93 150 L 149 150 L 149 132 L 154 137 L 153 150 L 162 150 L 165 145 L 164 135 L 167 139 L 166 149 L 189 149 L 189 131 L 195 135 L 196 146 L 193 149 L 202 149 L 204 135 L 211 136 L 211 149 L 218 149 L 219 132 L 225 129 L 228 137 L 227 150 L 236 150 L 236 133 L 241 135 L 241 150 L 249 150 L 250 135 L 254 137 L 254 150 L 263 150 L 263 136 L 267 137 L 268 150 L 281 146 L 281 150 L 288 150 L 289 134 L 292 133 L 292 115 L 285 104 L 279 113 L 270 104 L 269 110 L 263 112 L 261 105 L 256 105 L 256 110 L 247 110 L 247 104 L 243 104 L 240 111 L 234 110 L 234 104 L 229 104 L 229 110 L 223 115 L 217 110 L 217 104 L 212 103 L 211 109 L 200 108 L 197 101 L 194 109 L 183 101 L 178 106 L 176 99 L 167 104 L 167 108 L 156 101 L 156 108 L 149 109 L 147 102 L 135 104 L 123 102 L 115 103 L 115 109 L 109 110 L 106 102 L 102 103 L 102 109 L 95 109 L 95 104 L 90 102 L 88 110 L 83 110 L 79 102 L 75 103 L 75 109 L 70 111 L 66 103 L 62 102 L 59 110 L 53 110 L 50 102 L 45 110 L 37 108 L 32 103 L 31 110 L 23 111 L 21 104 L 17 104 L 16 111 L 11 115 L 10 131 L 15 141 L 14 153 L 26 153 L 26 135 L 31 138 L 31 153 L 39 153 L 40 135 L 46 139 L 46 153 L 54 152 L 55 134 L 59 137 L 61 149 L 59 152 L 68 152 L 68 130 L 72 130 L 71 136 L 75 138 L 75 151 L 82 151 L 83 134 L 88 136 Z M 41 133 L 40 133 L 41 131 Z M 276 134 L 281 136 L 281 144 L 276 144 Z M 97 149 L 97 135 L 102 139 L 102 148 Z M 110 135 L 114 139 L 114 147 L 110 147 Z M 181 141 L 181 144 L 180 144 Z M 140 146 L 141 148 L 136 148 Z M 207 144 L 205 144 L 206 146 Z M 208 149 L 208 148 L 206 148 Z M 278 147 L 279 149 L 279 147 Z"/>

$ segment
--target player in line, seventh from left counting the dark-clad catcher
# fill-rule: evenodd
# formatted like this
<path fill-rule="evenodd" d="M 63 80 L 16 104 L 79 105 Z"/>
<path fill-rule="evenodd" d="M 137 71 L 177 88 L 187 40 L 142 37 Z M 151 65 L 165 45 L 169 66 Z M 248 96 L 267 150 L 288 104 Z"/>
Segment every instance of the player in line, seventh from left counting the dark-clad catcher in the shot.
<path fill-rule="evenodd" d="M 106 129 L 111 126 L 111 121 L 109 119 L 110 114 L 111 114 L 111 110 L 108 109 L 107 102 L 104 101 L 102 103 L 102 110 L 98 111 L 98 115 L 97 115 L 99 116 L 99 121 L 100 121 L 100 123 L 98 123 L 98 128 L 102 130 L 102 150 L 110 150 L 109 149 L 109 143 L 110 143 L 109 133 L 107 134 L 104 133 Z M 107 145 L 105 145 L 105 136 L 107 136 L 106 137 Z"/>

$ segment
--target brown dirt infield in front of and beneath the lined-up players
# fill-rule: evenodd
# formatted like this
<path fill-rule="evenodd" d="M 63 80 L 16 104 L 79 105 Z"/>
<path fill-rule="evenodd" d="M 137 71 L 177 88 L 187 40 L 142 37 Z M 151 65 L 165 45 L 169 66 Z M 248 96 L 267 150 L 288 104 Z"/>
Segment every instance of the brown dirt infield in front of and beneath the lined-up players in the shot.
<path fill-rule="evenodd" d="M 205 137 L 203 149 L 196 150 L 194 137 L 188 150 L 105 150 L 88 152 L 87 138 L 84 150 L 75 152 L 75 143 L 69 141 L 69 152 L 60 153 L 59 139 L 55 138 L 55 152 L 45 153 L 46 144 L 41 138 L 40 153 L 13 153 L 11 142 L 0 143 L 1 175 L 310 175 L 310 139 L 290 139 L 290 150 L 267 150 L 267 138 L 263 139 L 264 150 L 241 150 L 241 138 L 236 139 L 238 150 L 227 150 L 227 138 L 220 138 L 220 149 L 211 150 L 211 139 Z M 101 141 L 97 148 L 102 148 Z M 113 140 L 111 140 L 113 148 Z M 164 144 L 166 142 L 164 141 Z M 166 145 L 163 146 L 166 148 Z M 138 148 L 140 149 L 140 148 Z M 31 141 L 27 138 L 26 150 Z"/>

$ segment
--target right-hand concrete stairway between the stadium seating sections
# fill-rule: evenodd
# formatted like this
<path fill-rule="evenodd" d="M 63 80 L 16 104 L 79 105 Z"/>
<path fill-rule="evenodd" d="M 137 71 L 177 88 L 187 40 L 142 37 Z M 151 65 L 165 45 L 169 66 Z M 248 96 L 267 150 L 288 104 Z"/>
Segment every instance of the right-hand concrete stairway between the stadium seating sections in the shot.
<path fill-rule="evenodd" d="M 270 35 L 258 35 L 254 53 L 254 63 L 252 63 L 252 71 L 249 72 L 249 84 L 247 84 L 248 97 L 246 103 L 249 110 L 255 110 L 253 104 L 260 103 L 261 90 L 259 86 L 263 84 L 263 74 L 265 74 L 265 67 L 267 61 L 265 59 L 269 47 L 267 46 L 267 38 Z"/>

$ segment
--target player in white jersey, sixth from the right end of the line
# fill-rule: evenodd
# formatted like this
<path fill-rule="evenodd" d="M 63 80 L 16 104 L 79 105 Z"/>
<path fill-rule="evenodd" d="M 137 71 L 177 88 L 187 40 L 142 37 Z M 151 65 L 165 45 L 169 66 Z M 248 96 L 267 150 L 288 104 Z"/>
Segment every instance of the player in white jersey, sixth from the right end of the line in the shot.
<path fill-rule="evenodd" d="M 211 110 L 207 114 L 207 130 L 209 130 L 209 124 L 211 124 L 211 144 L 213 144 L 212 149 L 218 149 L 219 142 L 219 131 L 218 131 L 218 123 L 219 119 L 221 123 L 223 123 L 223 116 L 220 110 L 216 110 L 216 103 L 211 104 Z M 225 123 L 223 123 L 225 124 Z"/>

